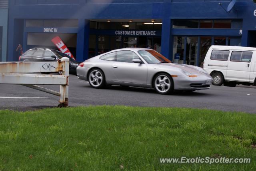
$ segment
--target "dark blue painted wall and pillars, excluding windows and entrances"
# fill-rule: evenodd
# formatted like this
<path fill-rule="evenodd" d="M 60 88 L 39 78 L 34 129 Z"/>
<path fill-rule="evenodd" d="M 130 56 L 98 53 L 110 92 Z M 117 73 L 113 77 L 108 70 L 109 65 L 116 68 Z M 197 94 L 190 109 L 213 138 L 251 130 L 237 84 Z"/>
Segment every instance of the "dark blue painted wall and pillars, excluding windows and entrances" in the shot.
<path fill-rule="evenodd" d="M 14 49 L 24 41 L 24 19 L 78 19 L 77 60 L 88 56 L 88 21 L 93 19 L 161 19 L 162 54 L 172 58 L 172 35 L 239 36 L 239 30 L 171 29 L 173 19 L 242 19 L 242 46 L 248 31 L 256 30 L 256 5 L 238 0 L 230 13 L 229 0 L 12 0 L 9 1 L 8 61 L 17 60 Z M 22 36 L 21 36 L 22 35 Z"/>

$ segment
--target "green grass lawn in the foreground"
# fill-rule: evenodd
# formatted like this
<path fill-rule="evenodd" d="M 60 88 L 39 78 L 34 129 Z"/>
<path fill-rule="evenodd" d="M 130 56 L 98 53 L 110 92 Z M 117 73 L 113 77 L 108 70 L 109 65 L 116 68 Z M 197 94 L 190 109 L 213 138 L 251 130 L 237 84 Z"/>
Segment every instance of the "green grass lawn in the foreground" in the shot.
<path fill-rule="evenodd" d="M 0 170 L 256 170 L 256 115 L 95 106 L 0 111 Z M 162 164 L 170 157 L 250 163 Z"/>

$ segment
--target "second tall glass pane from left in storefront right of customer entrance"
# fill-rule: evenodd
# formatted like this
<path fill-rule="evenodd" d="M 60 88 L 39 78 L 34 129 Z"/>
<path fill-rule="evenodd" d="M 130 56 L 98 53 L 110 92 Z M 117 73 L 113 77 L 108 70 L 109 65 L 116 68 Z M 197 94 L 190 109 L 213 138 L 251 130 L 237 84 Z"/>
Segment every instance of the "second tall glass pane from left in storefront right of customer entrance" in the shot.
<path fill-rule="evenodd" d="M 198 37 L 187 37 L 185 64 L 196 65 L 196 57 L 198 54 L 197 47 L 198 47 Z"/>

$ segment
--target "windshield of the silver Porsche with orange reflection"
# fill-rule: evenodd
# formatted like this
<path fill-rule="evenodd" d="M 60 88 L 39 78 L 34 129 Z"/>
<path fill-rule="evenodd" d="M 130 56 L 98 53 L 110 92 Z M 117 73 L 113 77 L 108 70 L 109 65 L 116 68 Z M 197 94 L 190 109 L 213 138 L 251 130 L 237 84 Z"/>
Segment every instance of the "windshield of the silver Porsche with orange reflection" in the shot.
<path fill-rule="evenodd" d="M 170 60 L 154 50 L 140 50 L 138 53 L 148 64 L 171 63 Z"/>

